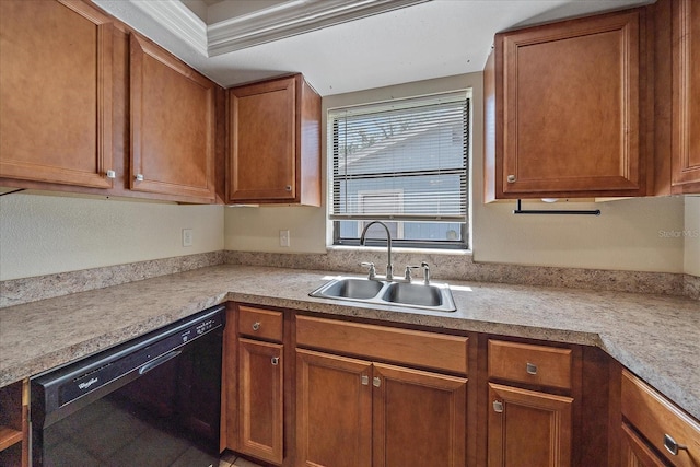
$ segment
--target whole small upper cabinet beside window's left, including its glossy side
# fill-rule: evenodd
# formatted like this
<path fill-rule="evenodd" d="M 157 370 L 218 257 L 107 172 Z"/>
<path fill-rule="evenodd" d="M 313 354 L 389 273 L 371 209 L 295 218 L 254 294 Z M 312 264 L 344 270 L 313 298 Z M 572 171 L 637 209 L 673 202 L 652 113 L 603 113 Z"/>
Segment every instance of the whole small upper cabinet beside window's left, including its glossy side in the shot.
<path fill-rule="evenodd" d="M 226 202 L 320 206 L 320 96 L 301 74 L 229 90 Z"/>

